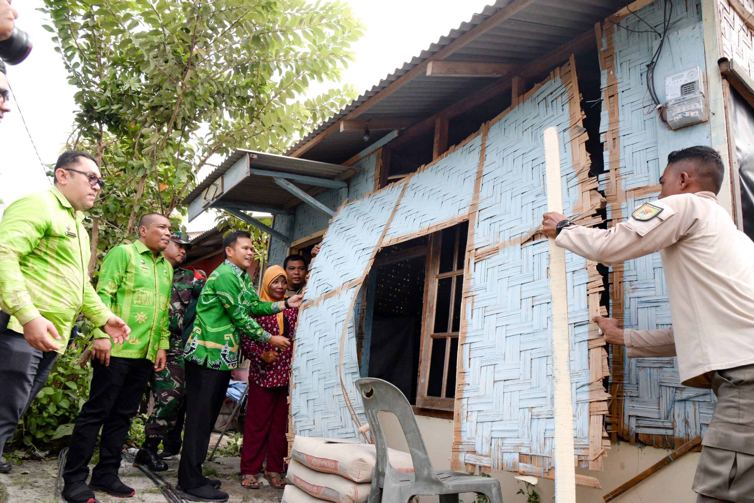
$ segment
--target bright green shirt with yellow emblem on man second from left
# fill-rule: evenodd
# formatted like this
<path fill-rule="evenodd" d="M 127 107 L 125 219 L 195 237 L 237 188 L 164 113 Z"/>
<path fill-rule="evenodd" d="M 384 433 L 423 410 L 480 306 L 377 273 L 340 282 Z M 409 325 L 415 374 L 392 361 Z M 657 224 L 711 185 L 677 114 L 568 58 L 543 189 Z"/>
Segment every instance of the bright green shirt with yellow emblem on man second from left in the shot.
<path fill-rule="evenodd" d="M 112 248 L 100 267 L 97 294 L 131 328 L 122 344 L 113 344 L 111 354 L 121 358 L 155 361 L 158 349 L 170 347 L 167 310 L 173 267 L 141 241 Z M 109 337 L 94 331 L 94 338 Z"/>

